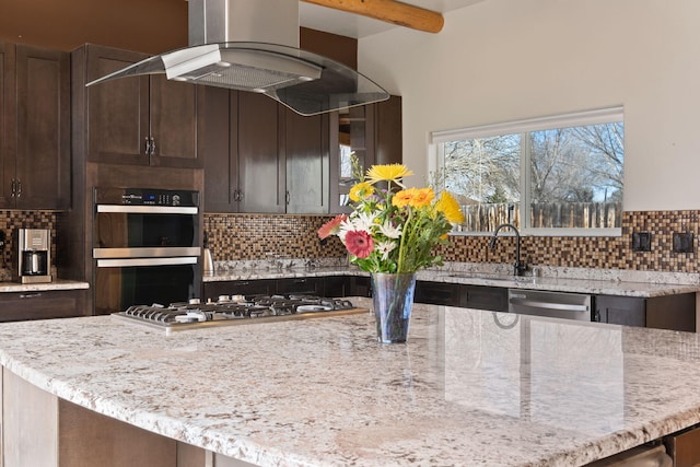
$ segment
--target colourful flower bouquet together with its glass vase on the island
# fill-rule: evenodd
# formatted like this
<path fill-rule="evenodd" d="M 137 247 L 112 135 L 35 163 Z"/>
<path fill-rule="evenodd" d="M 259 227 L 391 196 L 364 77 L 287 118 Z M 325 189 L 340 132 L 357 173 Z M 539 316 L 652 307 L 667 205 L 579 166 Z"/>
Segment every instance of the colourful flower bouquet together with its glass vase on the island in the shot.
<path fill-rule="evenodd" d="M 405 165 L 373 165 L 364 171 L 352 159 L 352 212 L 337 215 L 318 230 L 318 236 L 337 235 L 350 262 L 372 276 L 377 337 L 382 342 L 406 341 L 413 302 L 416 271 L 442 266 L 433 249 L 446 245 L 452 223 L 464 221 L 447 191 L 439 198 L 430 187 L 407 188 L 413 175 Z M 382 185 L 382 186 L 380 186 Z"/>

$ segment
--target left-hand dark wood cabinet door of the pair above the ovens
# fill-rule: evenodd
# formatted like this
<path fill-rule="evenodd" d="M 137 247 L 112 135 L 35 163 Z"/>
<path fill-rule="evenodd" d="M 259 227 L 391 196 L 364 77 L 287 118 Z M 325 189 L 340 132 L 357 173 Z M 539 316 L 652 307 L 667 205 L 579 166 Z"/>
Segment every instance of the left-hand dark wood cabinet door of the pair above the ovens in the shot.
<path fill-rule="evenodd" d="M 144 54 L 86 46 L 86 82 L 136 63 Z M 149 164 L 149 77 L 121 78 L 86 90 L 88 159 Z"/>

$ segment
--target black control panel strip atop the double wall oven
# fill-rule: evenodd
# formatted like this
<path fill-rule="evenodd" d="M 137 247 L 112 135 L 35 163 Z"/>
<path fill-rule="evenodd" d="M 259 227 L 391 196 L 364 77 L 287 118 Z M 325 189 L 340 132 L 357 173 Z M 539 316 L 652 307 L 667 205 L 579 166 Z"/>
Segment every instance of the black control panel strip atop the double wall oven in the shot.
<path fill-rule="evenodd" d="M 199 191 L 149 188 L 95 188 L 95 205 L 199 206 Z"/>

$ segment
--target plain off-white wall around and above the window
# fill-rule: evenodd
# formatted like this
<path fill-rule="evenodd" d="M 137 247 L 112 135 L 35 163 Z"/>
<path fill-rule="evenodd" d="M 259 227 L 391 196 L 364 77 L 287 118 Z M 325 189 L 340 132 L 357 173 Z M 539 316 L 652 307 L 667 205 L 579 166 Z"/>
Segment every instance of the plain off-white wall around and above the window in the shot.
<path fill-rule="evenodd" d="M 433 130 L 623 105 L 625 209 L 700 209 L 699 24 L 698 0 L 485 0 L 361 39 L 359 65 L 402 96 L 412 184 Z"/>

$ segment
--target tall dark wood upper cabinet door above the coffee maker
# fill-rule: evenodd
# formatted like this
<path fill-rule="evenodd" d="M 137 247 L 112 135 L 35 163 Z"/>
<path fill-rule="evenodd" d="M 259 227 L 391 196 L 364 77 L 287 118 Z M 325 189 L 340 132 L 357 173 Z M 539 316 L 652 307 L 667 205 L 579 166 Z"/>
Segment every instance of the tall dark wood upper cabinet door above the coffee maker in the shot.
<path fill-rule="evenodd" d="M 70 55 L 16 47 L 18 209 L 70 207 Z"/>

